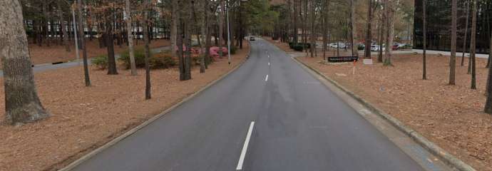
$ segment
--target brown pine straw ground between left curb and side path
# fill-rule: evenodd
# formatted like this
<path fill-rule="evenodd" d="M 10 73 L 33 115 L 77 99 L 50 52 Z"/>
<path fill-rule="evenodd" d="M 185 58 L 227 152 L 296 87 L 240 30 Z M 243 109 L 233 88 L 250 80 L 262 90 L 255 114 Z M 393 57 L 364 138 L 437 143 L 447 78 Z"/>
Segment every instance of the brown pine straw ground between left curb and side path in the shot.
<path fill-rule="evenodd" d="M 224 57 L 206 73 L 194 67 L 190 81 L 179 81 L 177 68 L 151 71 L 151 100 L 144 100 L 143 70 L 138 76 L 123 70 L 108 76 L 91 68 L 90 88 L 84 87 L 81 67 L 36 73 L 38 93 L 51 118 L 21 126 L 0 125 L 0 170 L 57 170 L 203 88 L 245 60 L 248 51 L 245 43 L 230 66 Z M 0 96 L 3 120 L 3 86 Z"/>

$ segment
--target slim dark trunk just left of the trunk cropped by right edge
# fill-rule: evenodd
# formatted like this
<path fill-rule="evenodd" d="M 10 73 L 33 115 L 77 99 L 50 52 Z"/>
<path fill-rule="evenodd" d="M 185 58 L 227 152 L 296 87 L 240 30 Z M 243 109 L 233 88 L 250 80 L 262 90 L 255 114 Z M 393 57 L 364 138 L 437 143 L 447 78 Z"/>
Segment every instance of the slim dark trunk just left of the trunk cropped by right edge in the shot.
<path fill-rule="evenodd" d="M 477 0 L 473 1 L 473 14 L 471 18 L 471 46 L 470 46 L 470 58 L 471 58 L 471 89 L 476 89 L 476 13 L 478 11 Z"/>

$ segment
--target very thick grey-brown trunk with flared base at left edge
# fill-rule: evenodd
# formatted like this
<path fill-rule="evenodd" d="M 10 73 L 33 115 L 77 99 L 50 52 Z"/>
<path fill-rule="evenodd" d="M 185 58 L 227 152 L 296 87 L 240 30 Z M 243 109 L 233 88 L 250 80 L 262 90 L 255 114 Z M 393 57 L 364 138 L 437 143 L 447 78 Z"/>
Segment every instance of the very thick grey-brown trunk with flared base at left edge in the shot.
<path fill-rule="evenodd" d="M 21 4 L 0 1 L 0 56 L 4 69 L 6 123 L 48 118 L 36 91 Z"/>

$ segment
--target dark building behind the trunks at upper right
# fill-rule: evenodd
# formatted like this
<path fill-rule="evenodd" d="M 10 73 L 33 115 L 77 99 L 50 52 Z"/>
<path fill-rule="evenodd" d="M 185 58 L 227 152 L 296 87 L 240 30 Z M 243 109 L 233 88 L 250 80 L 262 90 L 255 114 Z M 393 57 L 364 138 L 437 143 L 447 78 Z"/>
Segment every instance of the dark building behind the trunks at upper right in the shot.
<path fill-rule="evenodd" d="M 463 51 L 463 39 L 466 28 L 466 6 L 469 0 L 458 0 L 458 40 L 457 51 Z M 470 48 L 471 14 L 469 7 L 467 52 Z M 477 53 L 488 53 L 491 38 L 492 1 L 478 0 L 477 13 Z M 422 49 L 422 0 L 415 0 L 414 48 Z M 427 0 L 427 49 L 451 51 L 451 0 Z"/>

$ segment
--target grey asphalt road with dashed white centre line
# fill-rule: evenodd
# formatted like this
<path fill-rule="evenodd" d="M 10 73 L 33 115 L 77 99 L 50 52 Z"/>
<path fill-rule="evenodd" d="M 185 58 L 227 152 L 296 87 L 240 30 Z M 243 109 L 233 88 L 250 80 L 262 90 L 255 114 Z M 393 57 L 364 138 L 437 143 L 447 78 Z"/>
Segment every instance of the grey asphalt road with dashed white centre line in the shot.
<path fill-rule="evenodd" d="M 263 40 L 237 71 L 74 170 L 237 169 L 423 170 Z"/>

